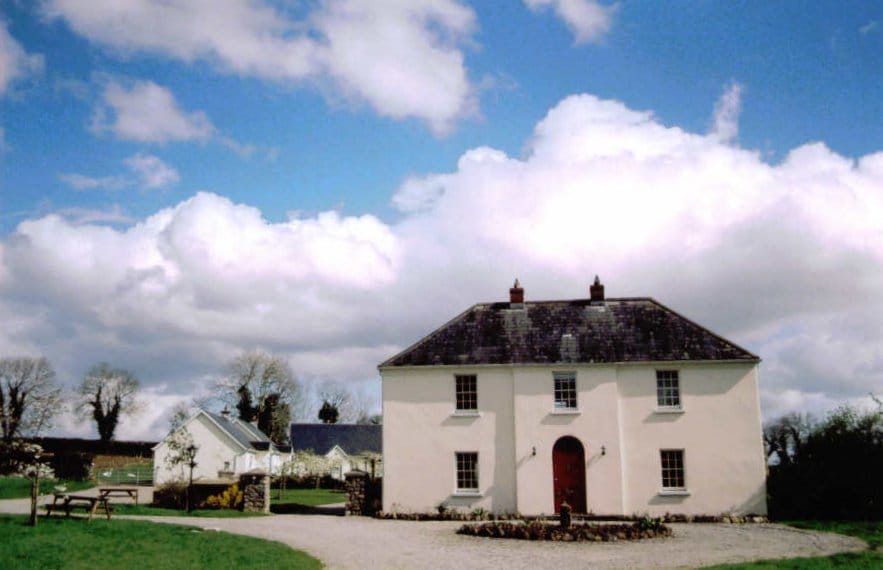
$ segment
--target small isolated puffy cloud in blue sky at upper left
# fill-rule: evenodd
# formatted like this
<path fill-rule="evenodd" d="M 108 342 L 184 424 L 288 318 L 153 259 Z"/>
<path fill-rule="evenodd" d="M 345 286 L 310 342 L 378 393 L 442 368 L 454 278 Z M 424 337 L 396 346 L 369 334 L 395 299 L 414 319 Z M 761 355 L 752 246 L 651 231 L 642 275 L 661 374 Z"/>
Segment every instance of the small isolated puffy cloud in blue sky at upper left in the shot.
<path fill-rule="evenodd" d="M 171 91 L 152 81 L 137 81 L 127 88 L 109 80 L 102 99 L 92 117 L 93 130 L 110 131 L 123 140 L 207 141 L 216 132 L 205 113 L 182 111 Z"/>

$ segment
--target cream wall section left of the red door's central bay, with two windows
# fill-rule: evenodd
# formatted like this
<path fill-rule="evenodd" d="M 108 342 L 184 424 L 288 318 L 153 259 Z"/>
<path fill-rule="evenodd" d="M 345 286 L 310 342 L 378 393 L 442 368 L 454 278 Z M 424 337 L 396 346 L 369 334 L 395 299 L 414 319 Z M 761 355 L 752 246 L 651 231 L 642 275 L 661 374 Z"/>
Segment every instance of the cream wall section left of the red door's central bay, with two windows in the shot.
<path fill-rule="evenodd" d="M 383 510 L 431 512 L 440 503 L 515 512 L 512 374 L 478 372 L 478 416 L 454 415 L 455 374 L 427 367 L 383 371 Z M 455 453 L 478 452 L 477 496 L 455 493 Z"/>

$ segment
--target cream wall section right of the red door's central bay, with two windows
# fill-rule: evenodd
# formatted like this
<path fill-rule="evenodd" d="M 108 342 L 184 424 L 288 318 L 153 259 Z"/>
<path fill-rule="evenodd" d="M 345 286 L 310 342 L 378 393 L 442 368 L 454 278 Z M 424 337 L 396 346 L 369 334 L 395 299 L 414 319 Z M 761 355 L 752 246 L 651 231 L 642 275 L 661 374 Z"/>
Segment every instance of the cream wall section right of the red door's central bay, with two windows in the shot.
<path fill-rule="evenodd" d="M 682 414 L 657 413 L 655 370 L 678 370 Z M 625 513 L 766 514 L 755 364 L 622 366 Z M 687 496 L 660 495 L 660 449 L 683 449 Z"/>

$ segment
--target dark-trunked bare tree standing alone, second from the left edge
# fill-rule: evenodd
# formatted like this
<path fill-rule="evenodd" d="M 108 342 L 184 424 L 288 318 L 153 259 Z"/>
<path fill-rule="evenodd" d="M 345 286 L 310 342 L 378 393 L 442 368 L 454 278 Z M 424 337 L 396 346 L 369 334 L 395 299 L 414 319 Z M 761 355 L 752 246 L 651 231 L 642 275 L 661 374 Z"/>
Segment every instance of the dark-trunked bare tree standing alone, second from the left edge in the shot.
<path fill-rule="evenodd" d="M 121 368 L 111 368 L 106 362 L 96 364 L 80 383 L 77 407 L 84 417 L 91 416 L 98 428 L 98 437 L 105 444 L 113 439 L 122 416 L 139 410 L 139 383 L 135 375 Z"/>

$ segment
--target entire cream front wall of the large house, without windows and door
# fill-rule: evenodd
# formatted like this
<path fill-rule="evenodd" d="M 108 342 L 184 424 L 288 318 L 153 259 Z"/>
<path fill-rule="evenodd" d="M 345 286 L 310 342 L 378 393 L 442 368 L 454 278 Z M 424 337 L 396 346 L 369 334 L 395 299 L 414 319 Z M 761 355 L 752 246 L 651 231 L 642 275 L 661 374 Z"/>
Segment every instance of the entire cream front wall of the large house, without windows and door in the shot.
<path fill-rule="evenodd" d="M 684 413 L 656 412 L 657 369 L 679 371 Z M 753 363 L 384 369 L 383 508 L 552 513 L 552 448 L 572 436 L 585 451 L 595 514 L 765 513 L 756 371 Z M 555 410 L 554 372 L 576 374 L 578 413 Z M 454 376 L 464 373 L 477 376 L 475 417 L 452 415 Z M 660 494 L 660 449 L 684 450 L 688 495 Z M 455 495 L 456 451 L 478 452 L 480 496 Z"/>

